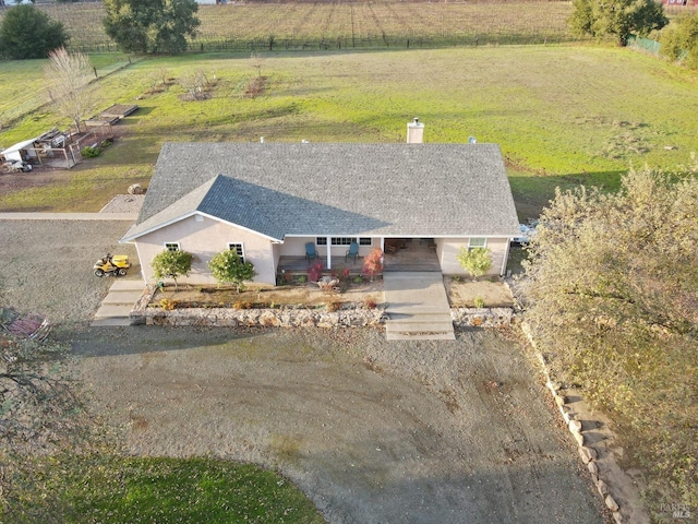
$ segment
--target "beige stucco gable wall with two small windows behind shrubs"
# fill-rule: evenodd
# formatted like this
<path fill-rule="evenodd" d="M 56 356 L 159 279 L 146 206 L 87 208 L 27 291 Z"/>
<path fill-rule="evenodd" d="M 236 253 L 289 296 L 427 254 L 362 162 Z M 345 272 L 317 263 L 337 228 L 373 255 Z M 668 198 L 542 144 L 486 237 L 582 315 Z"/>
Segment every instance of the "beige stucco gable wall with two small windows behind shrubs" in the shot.
<path fill-rule="evenodd" d="M 214 254 L 228 249 L 229 242 L 234 242 L 243 245 L 245 261 L 254 264 L 257 272 L 254 282 L 276 284 L 273 245 L 268 238 L 205 216 L 200 219 L 191 216 L 136 239 L 143 275 L 148 284 L 156 282 L 151 260 L 165 249 L 166 242 L 179 242 L 183 251 L 194 255 L 189 277 L 178 278 L 178 282 L 215 284 L 206 264 Z"/>

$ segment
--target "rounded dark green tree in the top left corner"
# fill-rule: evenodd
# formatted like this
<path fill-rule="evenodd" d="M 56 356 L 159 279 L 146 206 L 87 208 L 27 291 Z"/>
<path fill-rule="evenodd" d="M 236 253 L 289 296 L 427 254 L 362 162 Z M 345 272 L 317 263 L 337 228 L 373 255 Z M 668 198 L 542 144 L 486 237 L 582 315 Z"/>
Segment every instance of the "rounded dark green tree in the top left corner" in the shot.
<path fill-rule="evenodd" d="M 12 60 L 46 58 L 68 41 L 63 24 L 34 5 L 17 5 L 0 25 L 0 55 Z"/>

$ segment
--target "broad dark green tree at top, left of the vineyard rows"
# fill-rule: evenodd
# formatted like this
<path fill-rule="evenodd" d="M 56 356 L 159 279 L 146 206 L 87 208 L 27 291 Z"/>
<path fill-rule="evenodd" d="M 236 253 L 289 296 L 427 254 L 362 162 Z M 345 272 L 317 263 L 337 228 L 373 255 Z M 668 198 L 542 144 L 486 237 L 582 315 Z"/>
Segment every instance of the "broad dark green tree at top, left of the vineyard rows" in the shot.
<path fill-rule="evenodd" d="M 194 0 L 105 0 L 107 35 L 125 52 L 177 53 L 200 24 Z"/>

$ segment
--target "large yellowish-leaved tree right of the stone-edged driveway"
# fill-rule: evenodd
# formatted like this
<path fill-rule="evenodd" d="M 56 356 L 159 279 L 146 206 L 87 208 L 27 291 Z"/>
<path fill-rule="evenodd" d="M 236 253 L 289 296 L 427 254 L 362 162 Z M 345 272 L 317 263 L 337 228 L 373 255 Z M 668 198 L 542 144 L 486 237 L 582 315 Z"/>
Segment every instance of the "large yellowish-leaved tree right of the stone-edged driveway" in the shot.
<path fill-rule="evenodd" d="M 698 179 L 645 168 L 614 194 L 557 192 L 527 264 L 554 373 L 634 434 L 653 487 L 698 502 Z"/>

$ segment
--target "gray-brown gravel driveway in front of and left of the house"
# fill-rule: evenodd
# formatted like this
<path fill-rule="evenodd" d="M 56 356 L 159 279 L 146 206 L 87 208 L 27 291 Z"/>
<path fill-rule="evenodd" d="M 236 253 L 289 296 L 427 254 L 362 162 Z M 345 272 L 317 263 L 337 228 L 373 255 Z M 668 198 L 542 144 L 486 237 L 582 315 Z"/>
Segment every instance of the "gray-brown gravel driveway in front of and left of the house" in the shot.
<path fill-rule="evenodd" d="M 5 298 L 62 322 L 131 453 L 275 467 L 333 523 L 604 522 L 534 368 L 496 334 L 87 327 L 108 286 L 92 259 L 123 226 L 0 226 Z M 49 276 L 53 251 L 68 265 Z"/>

